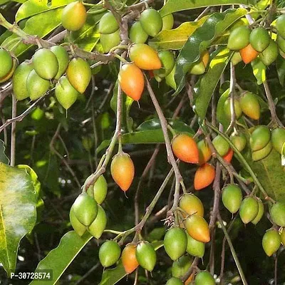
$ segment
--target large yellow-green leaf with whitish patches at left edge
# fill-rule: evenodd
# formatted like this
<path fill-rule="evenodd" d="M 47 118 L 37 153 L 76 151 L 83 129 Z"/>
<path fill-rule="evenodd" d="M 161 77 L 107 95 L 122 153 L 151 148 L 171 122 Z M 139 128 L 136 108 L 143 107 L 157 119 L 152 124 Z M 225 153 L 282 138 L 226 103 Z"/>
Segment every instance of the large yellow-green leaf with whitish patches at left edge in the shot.
<path fill-rule="evenodd" d="M 1 162 L 0 189 L 0 262 L 11 276 L 19 242 L 36 223 L 37 195 L 25 171 Z"/>

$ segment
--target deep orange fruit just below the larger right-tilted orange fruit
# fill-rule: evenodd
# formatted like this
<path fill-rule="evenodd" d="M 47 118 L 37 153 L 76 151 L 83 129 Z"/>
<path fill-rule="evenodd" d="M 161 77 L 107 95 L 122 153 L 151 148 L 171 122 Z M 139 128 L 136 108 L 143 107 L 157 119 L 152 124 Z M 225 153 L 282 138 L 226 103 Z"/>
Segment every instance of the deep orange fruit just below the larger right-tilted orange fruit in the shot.
<path fill-rule="evenodd" d="M 209 186 L 214 181 L 215 174 L 216 171 L 214 170 L 214 167 L 209 165 L 209 163 L 200 166 L 195 172 L 194 189 L 201 190 Z"/>

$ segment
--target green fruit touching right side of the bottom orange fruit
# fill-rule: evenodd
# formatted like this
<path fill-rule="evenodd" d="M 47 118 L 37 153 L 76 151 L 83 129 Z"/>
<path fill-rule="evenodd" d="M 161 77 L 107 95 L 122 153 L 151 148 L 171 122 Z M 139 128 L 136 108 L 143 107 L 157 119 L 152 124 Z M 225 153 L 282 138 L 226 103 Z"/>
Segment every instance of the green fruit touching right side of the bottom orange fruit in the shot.
<path fill-rule="evenodd" d="M 143 269 L 152 271 L 156 264 L 156 252 L 149 242 L 140 242 L 135 251 L 135 257 L 138 260 L 138 264 Z"/>

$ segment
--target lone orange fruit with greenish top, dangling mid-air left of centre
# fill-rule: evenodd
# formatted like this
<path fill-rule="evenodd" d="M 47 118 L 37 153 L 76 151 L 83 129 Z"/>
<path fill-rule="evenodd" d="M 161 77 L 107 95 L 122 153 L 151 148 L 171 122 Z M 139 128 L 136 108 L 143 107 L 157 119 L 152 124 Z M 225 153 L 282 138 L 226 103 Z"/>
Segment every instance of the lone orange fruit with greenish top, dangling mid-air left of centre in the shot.
<path fill-rule="evenodd" d="M 125 152 L 118 152 L 111 162 L 111 175 L 113 180 L 124 192 L 130 188 L 135 176 L 135 166 L 130 155 Z"/>

